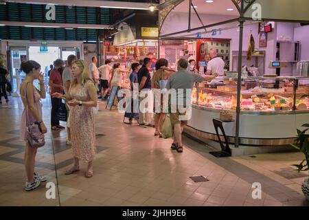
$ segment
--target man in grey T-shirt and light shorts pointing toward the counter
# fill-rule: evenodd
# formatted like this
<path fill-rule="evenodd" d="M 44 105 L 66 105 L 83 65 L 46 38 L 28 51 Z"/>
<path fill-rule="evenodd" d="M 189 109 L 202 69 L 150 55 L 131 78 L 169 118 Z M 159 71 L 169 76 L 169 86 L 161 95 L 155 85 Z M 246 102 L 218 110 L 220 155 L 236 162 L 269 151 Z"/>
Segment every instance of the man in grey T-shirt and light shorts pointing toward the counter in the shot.
<path fill-rule="evenodd" d="M 166 85 L 166 89 L 176 90 L 175 93 L 171 93 L 170 98 L 170 121 L 174 128 L 174 142 L 172 143 L 171 148 L 179 153 L 183 152 L 181 133 L 183 132 L 184 125 L 187 124 L 187 120 L 190 120 L 190 91 L 192 91 L 194 83 L 212 80 L 218 76 L 217 74 L 211 76 L 201 76 L 188 72 L 187 66 L 187 60 L 181 58 L 177 63 L 178 71 L 168 78 L 168 83 Z"/>

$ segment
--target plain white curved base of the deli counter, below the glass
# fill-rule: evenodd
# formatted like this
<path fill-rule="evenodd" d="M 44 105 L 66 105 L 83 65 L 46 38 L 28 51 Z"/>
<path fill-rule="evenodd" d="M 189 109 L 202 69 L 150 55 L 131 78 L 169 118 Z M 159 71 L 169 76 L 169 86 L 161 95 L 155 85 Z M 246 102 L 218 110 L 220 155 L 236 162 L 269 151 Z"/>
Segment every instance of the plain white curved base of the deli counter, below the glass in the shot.
<path fill-rule="evenodd" d="M 212 122 L 220 118 L 220 109 L 211 109 L 192 104 L 192 118 L 187 126 L 194 129 L 196 135 L 218 140 Z M 236 115 L 234 115 L 236 118 Z M 240 114 L 240 144 L 278 146 L 293 143 L 297 129 L 309 122 L 309 111 L 256 112 L 244 111 Z M 236 122 L 223 123 L 229 142 L 234 143 Z M 220 132 L 220 135 L 222 133 Z"/>

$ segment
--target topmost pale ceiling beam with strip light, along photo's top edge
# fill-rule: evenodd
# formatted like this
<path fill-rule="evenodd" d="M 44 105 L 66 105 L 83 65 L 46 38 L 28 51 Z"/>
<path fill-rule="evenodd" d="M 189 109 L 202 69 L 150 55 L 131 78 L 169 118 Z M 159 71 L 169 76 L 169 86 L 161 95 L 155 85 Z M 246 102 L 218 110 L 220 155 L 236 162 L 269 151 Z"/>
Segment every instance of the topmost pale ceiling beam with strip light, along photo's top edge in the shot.
<path fill-rule="evenodd" d="M 99 0 L 5 0 L 6 2 L 32 3 L 32 4 L 54 4 L 67 6 L 100 7 L 148 10 L 150 3 L 127 2 L 127 1 L 99 1 Z M 158 4 L 153 4 L 157 6 Z"/>

